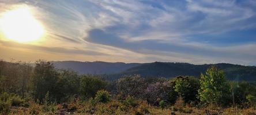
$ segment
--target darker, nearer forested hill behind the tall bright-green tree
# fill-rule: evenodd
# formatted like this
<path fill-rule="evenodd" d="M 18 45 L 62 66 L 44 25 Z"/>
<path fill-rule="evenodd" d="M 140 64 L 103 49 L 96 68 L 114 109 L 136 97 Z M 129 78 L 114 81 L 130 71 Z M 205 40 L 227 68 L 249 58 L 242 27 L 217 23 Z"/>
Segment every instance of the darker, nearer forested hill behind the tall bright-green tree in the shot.
<path fill-rule="evenodd" d="M 118 78 L 123 75 L 139 74 L 142 77 L 164 77 L 172 78 L 178 75 L 191 75 L 199 76 L 205 73 L 207 68 L 216 65 L 218 68 L 225 72 L 228 79 L 234 81 L 256 81 L 256 67 L 255 66 L 241 66 L 236 64 L 202 64 L 194 65 L 189 63 L 145 63 L 140 66 L 132 67 L 119 74 L 112 74 L 108 77 L 112 79 Z"/>

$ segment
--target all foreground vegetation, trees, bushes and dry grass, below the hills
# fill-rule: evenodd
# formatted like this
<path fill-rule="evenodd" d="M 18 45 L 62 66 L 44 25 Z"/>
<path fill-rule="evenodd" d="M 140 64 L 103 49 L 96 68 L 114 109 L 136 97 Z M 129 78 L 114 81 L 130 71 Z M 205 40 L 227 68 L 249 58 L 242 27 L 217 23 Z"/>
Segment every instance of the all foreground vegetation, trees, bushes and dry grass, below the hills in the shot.
<path fill-rule="evenodd" d="M 50 62 L 0 62 L 0 114 L 256 114 L 256 83 L 228 81 L 216 66 L 199 78 L 116 81 Z"/>

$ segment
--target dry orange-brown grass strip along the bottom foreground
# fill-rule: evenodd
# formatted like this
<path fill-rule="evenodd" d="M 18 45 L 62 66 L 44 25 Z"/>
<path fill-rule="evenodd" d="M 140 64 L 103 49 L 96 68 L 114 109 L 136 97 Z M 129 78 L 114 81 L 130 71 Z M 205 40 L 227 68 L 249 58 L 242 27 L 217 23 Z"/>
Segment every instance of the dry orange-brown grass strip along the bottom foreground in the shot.
<path fill-rule="evenodd" d="M 136 106 L 129 106 L 123 101 L 112 99 L 110 102 L 104 104 L 97 102 L 91 104 L 88 102 L 76 101 L 70 104 L 58 105 L 39 105 L 30 102 L 28 107 L 12 106 L 9 114 L 256 114 L 253 108 L 239 109 L 239 108 L 195 108 L 185 106 L 167 106 L 160 108 L 158 106 L 151 106 L 145 101 L 136 100 Z"/>

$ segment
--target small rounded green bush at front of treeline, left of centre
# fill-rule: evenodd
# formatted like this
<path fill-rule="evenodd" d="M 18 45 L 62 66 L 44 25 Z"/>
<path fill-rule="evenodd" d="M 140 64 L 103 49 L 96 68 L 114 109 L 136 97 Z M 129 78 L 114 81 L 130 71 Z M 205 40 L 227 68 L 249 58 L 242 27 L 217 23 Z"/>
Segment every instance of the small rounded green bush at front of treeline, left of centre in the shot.
<path fill-rule="evenodd" d="M 99 90 L 95 96 L 97 102 L 107 103 L 110 101 L 110 93 L 106 90 Z"/>

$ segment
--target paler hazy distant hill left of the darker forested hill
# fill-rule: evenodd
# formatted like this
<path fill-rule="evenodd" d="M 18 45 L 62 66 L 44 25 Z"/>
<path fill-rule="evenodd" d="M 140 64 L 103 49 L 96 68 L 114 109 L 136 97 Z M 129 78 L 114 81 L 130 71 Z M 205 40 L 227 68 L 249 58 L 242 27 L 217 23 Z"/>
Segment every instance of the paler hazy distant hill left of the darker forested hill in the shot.
<path fill-rule="evenodd" d="M 51 62 L 56 68 L 70 69 L 80 74 L 115 74 L 129 68 L 139 66 L 140 63 L 110 63 L 110 62 L 77 62 L 77 61 L 54 61 Z"/>

